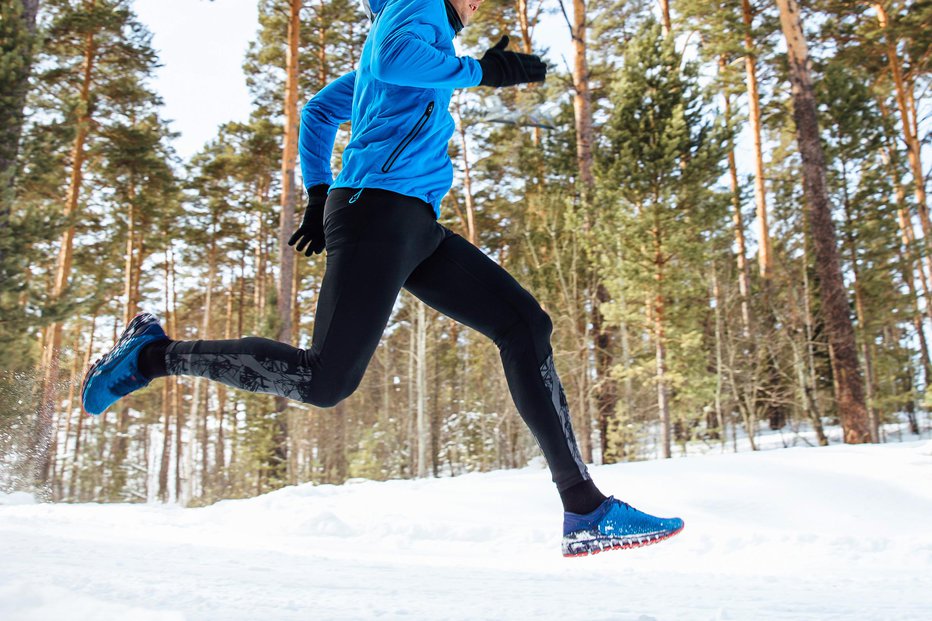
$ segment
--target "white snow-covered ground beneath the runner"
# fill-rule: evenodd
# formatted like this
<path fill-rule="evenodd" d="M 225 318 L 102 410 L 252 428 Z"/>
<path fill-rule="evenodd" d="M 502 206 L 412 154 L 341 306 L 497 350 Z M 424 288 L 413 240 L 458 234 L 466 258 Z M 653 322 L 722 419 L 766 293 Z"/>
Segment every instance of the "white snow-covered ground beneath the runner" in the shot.
<path fill-rule="evenodd" d="M 932 442 L 593 468 L 684 532 L 564 559 L 545 470 L 202 509 L 0 497 L 0 619 L 932 619 Z"/>

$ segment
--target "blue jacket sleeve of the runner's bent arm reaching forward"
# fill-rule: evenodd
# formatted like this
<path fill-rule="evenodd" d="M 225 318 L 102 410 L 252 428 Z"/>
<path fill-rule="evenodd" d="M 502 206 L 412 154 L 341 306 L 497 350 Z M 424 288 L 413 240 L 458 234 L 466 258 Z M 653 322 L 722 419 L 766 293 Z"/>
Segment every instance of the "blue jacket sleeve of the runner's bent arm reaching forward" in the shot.
<path fill-rule="evenodd" d="M 466 88 L 482 80 L 479 61 L 450 56 L 431 42 L 445 27 L 440 3 L 390 1 L 379 13 L 373 75 L 383 82 L 420 88 Z"/>

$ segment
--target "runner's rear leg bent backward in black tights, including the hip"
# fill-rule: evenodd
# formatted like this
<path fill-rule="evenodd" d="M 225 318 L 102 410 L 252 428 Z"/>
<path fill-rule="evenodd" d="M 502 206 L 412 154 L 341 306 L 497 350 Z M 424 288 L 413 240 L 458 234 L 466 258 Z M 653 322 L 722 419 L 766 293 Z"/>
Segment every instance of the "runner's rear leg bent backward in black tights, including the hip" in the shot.
<path fill-rule="evenodd" d="M 352 394 L 398 292 L 443 231 L 420 200 L 384 190 L 357 195 L 342 188 L 328 197 L 324 229 L 327 268 L 309 349 L 259 337 L 173 341 L 165 349 L 165 372 L 320 407 Z"/>

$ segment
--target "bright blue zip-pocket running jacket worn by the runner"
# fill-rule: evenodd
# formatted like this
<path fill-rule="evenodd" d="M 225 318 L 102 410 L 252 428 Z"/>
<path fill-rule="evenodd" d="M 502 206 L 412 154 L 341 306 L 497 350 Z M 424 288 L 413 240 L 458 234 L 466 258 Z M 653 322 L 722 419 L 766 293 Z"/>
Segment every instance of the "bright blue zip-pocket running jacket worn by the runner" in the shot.
<path fill-rule="evenodd" d="M 315 95 L 301 114 L 305 187 L 381 188 L 430 203 L 453 184 L 447 144 L 453 89 L 477 86 L 482 69 L 457 57 L 443 0 L 370 0 L 374 19 L 359 68 Z M 330 157 L 337 127 L 352 120 L 336 180 Z"/>

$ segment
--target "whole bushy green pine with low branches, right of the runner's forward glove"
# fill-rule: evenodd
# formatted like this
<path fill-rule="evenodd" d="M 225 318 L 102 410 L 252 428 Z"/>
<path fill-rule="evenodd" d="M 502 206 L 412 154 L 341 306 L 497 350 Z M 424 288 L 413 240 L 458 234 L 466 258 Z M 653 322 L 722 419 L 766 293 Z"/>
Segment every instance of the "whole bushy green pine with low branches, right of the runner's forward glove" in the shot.
<path fill-rule="evenodd" d="M 709 250 L 703 232 L 727 205 L 713 189 L 721 174 L 723 135 L 705 118 L 708 104 L 697 71 L 694 63 L 683 62 L 660 24 L 646 22 L 629 44 L 613 90 L 614 109 L 604 128 L 608 144 L 600 158 L 603 200 L 612 205 L 599 229 L 603 256 L 611 257 L 603 264 L 614 298 L 607 306 L 614 321 L 628 313 L 624 319 L 633 323 L 621 300 L 643 304 L 638 322 L 653 341 L 663 457 L 671 455 L 673 393 L 681 389 L 680 378 L 699 344 L 695 322 L 701 318 L 684 311 L 706 295 L 701 274 Z M 646 379 L 647 368 L 641 373 Z"/>

